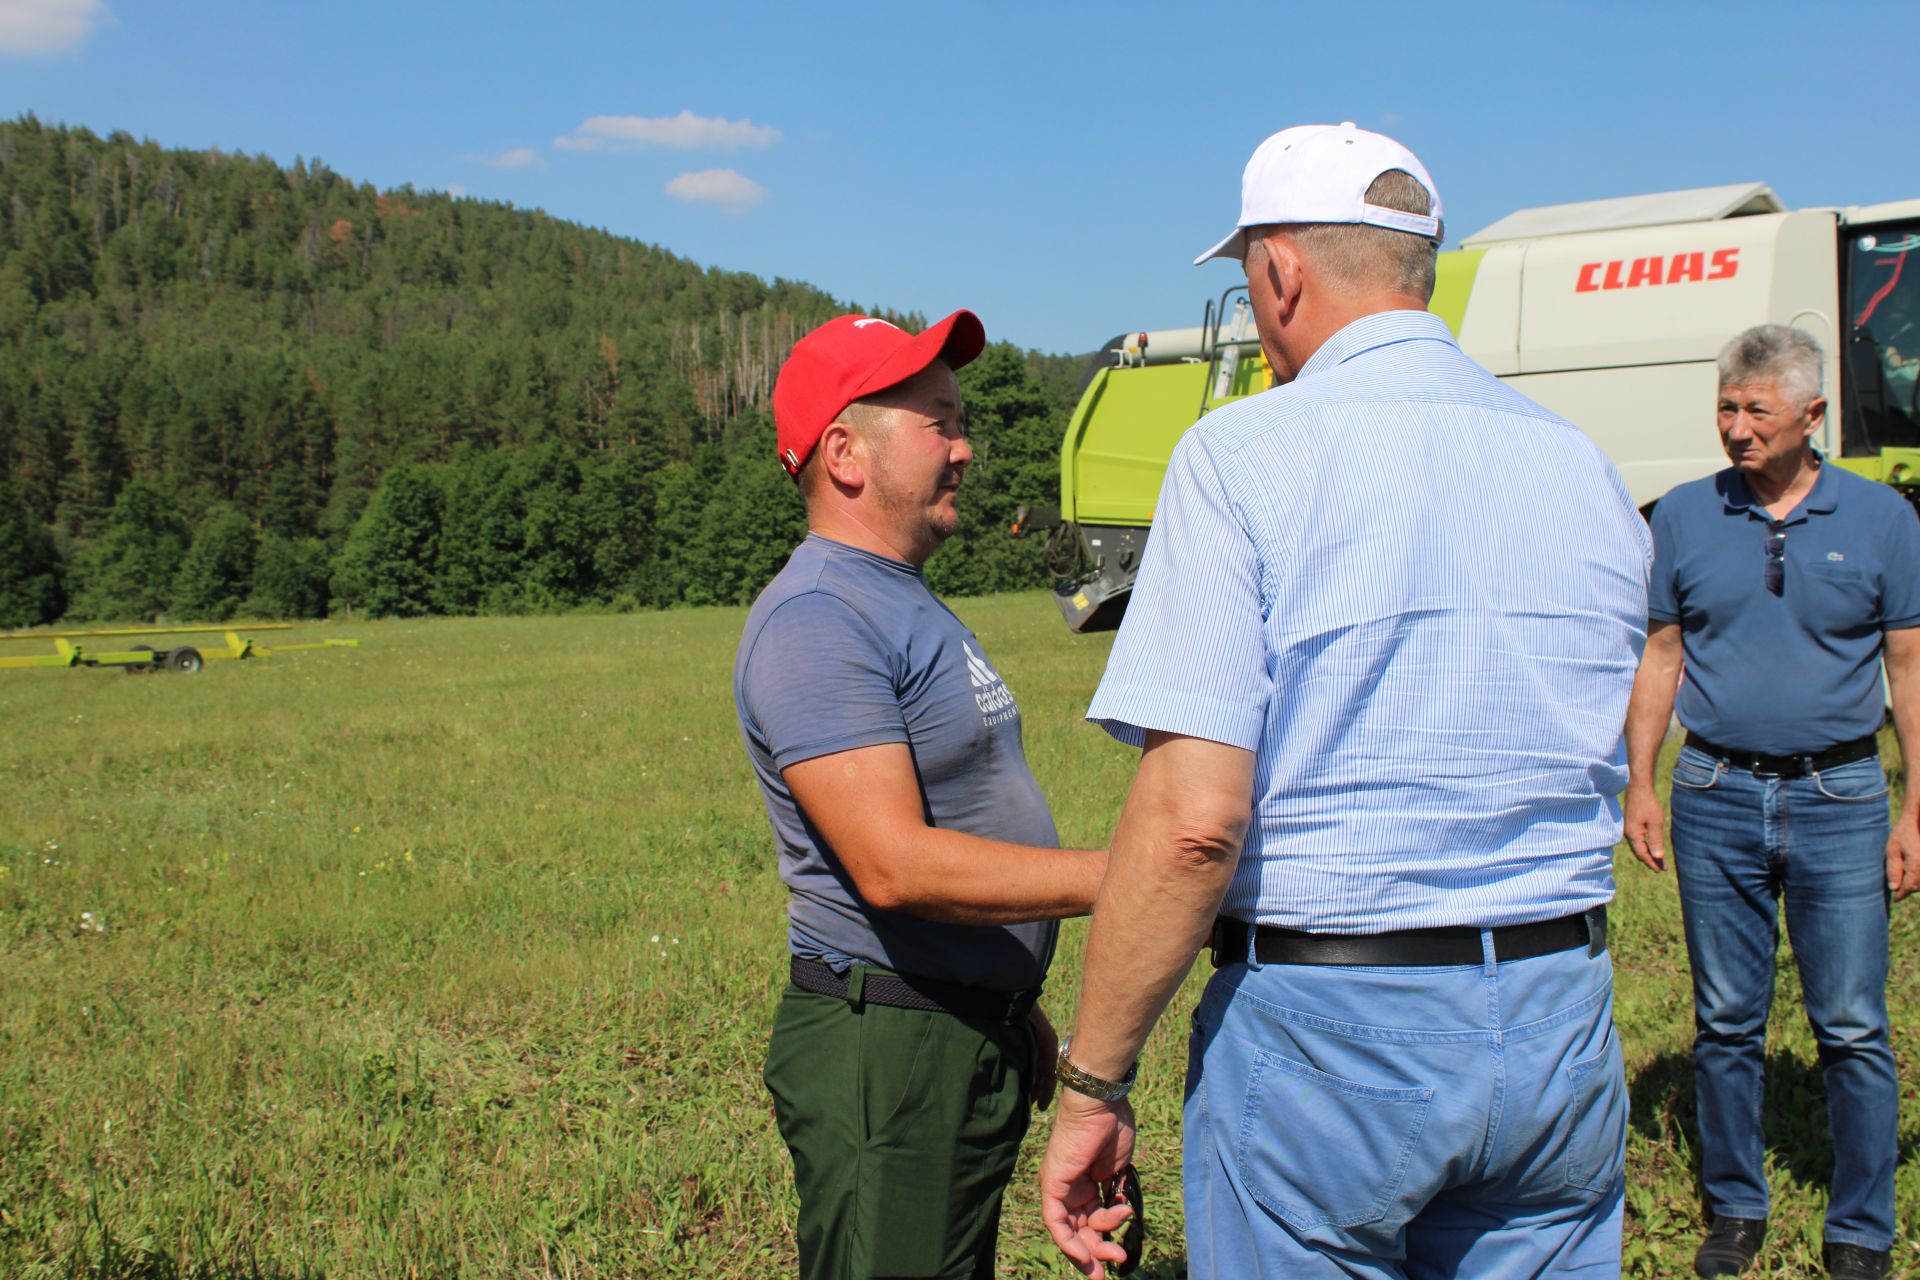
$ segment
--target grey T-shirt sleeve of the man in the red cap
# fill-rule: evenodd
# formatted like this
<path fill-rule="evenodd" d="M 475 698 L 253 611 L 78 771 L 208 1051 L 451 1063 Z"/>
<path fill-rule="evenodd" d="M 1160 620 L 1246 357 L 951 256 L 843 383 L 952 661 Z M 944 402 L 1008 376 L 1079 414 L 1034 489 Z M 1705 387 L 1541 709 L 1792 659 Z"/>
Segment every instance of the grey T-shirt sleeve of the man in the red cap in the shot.
<path fill-rule="evenodd" d="M 908 741 L 879 635 L 851 604 L 820 591 L 783 603 L 760 628 L 741 697 L 776 770 Z"/>

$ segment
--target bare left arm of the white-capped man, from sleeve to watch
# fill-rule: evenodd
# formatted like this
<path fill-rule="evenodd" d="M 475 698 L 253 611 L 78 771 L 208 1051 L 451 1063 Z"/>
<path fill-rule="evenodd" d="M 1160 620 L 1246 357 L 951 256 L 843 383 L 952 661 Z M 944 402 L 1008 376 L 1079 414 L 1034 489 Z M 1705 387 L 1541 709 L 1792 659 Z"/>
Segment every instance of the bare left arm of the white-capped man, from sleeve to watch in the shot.
<path fill-rule="evenodd" d="M 1075 1067 L 1117 1079 L 1140 1055 L 1233 881 L 1250 791 L 1252 752 L 1198 739 L 1148 743 L 1094 902 Z"/>

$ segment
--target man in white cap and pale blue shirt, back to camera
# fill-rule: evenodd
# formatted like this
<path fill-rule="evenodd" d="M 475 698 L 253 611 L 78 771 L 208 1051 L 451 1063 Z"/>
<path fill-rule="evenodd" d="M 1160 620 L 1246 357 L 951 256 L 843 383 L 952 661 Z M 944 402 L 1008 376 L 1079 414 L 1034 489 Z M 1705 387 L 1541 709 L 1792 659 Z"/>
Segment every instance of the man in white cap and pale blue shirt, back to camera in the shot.
<path fill-rule="evenodd" d="M 1200 259 L 1244 263 L 1283 386 L 1175 447 L 1087 712 L 1144 747 L 1041 1167 L 1087 1274 L 1210 938 L 1194 1276 L 1619 1274 L 1605 908 L 1651 549 L 1599 449 L 1425 311 L 1440 236 L 1411 152 L 1321 125 L 1254 152 Z"/>

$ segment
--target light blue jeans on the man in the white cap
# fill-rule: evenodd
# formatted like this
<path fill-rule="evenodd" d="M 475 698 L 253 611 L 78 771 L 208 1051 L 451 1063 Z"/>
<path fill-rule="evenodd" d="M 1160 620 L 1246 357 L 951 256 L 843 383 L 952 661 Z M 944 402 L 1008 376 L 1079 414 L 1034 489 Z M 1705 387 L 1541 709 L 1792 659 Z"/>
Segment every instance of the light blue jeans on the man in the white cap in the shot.
<path fill-rule="evenodd" d="M 1605 954 L 1223 965 L 1194 1009 L 1185 1130 L 1194 1280 L 1620 1274 Z"/>

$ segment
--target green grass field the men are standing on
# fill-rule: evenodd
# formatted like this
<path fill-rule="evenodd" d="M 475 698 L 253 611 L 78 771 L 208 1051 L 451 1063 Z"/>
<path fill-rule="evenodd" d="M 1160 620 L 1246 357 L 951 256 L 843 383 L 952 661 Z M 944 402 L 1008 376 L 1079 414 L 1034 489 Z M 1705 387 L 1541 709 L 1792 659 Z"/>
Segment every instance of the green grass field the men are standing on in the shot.
<path fill-rule="evenodd" d="M 960 601 L 1062 839 L 1133 752 L 1079 716 L 1106 637 Z M 0 672 L 0 1276 L 774 1276 L 793 1190 L 758 1069 L 783 890 L 741 752 L 741 610 L 355 624 L 194 677 Z M 1916 912 L 1895 917 L 1920 1226 Z M 1628 1274 L 1690 1274 L 1692 1013 L 1672 877 L 1620 864 Z M 1071 1009 L 1081 925 L 1048 1006 Z M 1183 1002 L 1198 990 L 1198 975 Z M 1755 1274 L 1814 1276 L 1830 1169 L 1782 967 Z M 1148 1276 L 1185 1274 L 1183 1019 L 1137 1094 Z M 1068 1274 L 1035 1219 L 1002 1268 Z"/>

